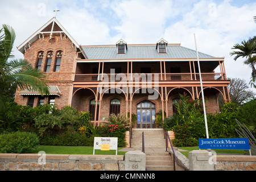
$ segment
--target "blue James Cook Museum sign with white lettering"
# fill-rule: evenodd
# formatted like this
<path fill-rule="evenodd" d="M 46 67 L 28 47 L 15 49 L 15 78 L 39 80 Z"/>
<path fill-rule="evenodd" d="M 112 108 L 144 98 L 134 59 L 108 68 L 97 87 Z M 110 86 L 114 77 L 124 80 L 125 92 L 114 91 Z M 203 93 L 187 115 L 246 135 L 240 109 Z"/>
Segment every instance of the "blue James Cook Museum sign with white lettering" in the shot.
<path fill-rule="evenodd" d="M 199 148 L 250 150 L 248 138 L 199 138 Z"/>

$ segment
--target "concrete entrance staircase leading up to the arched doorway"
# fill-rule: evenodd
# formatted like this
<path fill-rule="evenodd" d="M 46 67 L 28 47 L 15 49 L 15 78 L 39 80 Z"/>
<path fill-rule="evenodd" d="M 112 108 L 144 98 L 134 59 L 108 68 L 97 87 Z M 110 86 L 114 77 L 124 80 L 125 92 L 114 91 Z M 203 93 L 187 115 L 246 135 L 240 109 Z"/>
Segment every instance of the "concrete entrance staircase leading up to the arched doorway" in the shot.
<path fill-rule="evenodd" d="M 174 162 L 171 155 L 166 152 L 163 129 L 133 129 L 131 147 L 142 150 L 143 131 L 147 171 L 173 171 Z"/>

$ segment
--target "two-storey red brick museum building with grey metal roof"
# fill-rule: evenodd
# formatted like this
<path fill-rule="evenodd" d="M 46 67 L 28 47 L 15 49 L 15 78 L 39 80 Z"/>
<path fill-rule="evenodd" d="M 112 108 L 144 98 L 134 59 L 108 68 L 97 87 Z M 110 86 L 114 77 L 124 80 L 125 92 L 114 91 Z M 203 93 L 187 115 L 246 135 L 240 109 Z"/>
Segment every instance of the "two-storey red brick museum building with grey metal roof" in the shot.
<path fill-rule="evenodd" d="M 155 113 L 174 112 L 179 93 L 201 96 L 196 51 L 160 39 L 154 44 L 80 46 L 55 17 L 19 47 L 24 59 L 47 73 L 49 96 L 17 90 L 15 102 L 71 105 L 89 110 L 96 125 L 111 113 L 137 115 L 138 128 L 154 128 Z M 218 110 L 218 94 L 229 100 L 224 57 L 199 52 L 208 113 Z M 216 68 L 220 72 L 215 73 Z"/>

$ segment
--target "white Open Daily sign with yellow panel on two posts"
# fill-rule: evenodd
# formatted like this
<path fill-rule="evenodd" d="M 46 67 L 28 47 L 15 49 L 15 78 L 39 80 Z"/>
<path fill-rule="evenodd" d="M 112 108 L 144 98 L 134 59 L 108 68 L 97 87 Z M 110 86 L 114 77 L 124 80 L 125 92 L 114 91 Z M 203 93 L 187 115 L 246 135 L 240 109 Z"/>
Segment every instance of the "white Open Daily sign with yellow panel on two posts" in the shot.
<path fill-rule="evenodd" d="M 94 137 L 94 150 L 115 150 L 117 155 L 117 137 Z"/>

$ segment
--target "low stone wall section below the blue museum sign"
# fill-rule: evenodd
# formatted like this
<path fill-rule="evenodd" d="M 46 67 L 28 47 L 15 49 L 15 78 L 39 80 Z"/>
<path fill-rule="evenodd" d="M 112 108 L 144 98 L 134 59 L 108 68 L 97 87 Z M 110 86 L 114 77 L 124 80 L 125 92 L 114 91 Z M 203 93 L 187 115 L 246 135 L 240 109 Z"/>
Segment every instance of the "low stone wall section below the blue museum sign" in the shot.
<path fill-rule="evenodd" d="M 256 171 L 255 155 L 217 155 L 216 171 Z"/>

